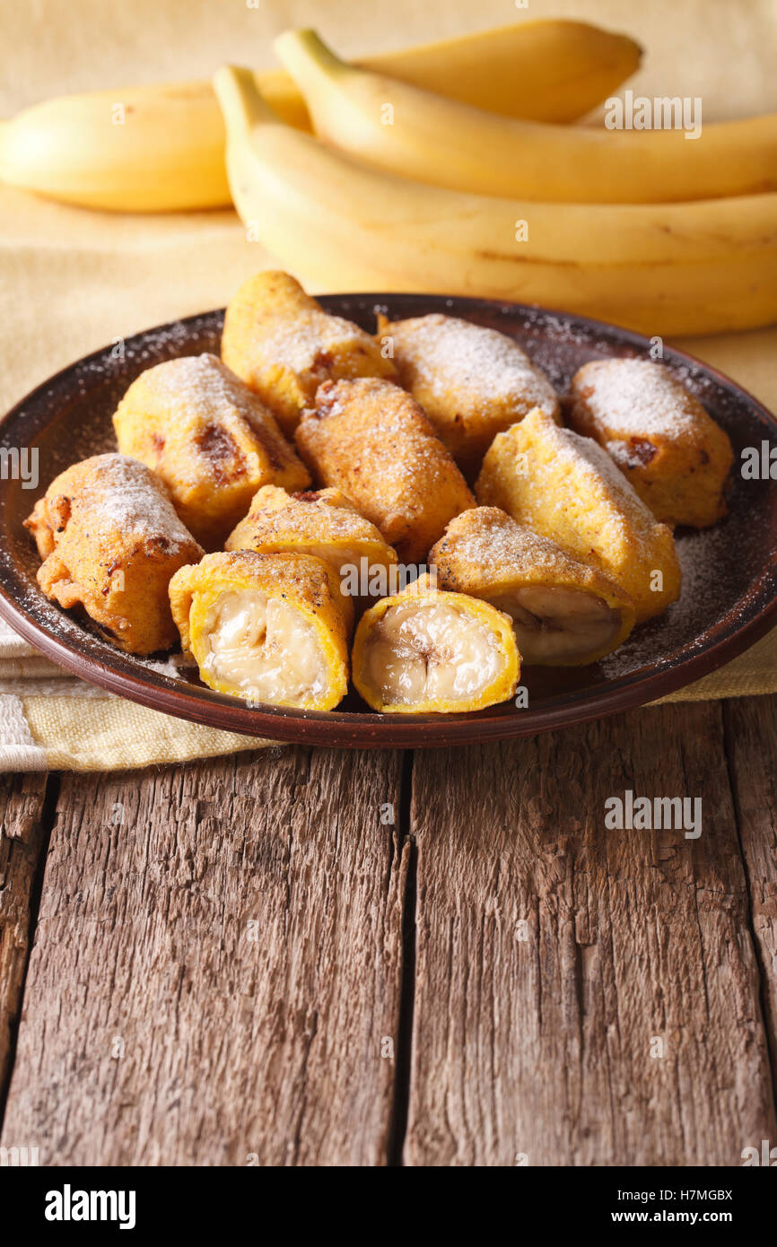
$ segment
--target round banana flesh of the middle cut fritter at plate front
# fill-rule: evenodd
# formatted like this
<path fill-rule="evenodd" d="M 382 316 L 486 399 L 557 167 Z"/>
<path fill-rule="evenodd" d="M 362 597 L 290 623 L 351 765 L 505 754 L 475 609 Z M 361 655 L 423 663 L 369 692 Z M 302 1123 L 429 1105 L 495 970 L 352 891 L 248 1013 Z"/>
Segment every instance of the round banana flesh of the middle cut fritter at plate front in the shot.
<path fill-rule="evenodd" d="M 390 606 L 374 626 L 368 675 L 384 705 L 469 701 L 498 676 L 493 632 L 448 602 Z"/>

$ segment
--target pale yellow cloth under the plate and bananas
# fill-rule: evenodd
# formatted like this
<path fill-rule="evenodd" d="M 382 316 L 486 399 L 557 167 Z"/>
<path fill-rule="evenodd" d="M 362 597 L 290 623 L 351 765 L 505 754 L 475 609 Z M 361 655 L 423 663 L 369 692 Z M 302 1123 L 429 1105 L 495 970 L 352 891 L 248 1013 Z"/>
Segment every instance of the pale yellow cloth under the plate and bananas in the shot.
<path fill-rule="evenodd" d="M 574 17 L 646 49 L 637 94 L 693 95 L 703 118 L 777 110 L 773 0 L 0 0 L 0 116 L 52 95 L 207 79 L 224 62 L 274 64 L 286 26 L 318 25 L 345 56 L 499 26 Z M 80 355 L 167 319 L 220 307 L 272 263 L 228 211 L 158 217 L 70 208 L 0 187 L 0 412 Z M 304 281 L 304 272 L 298 276 Z M 777 408 L 777 329 L 685 349 Z M 668 700 L 777 690 L 777 631 Z M 111 769 L 210 757 L 266 742 L 197 727 L 91 688 L 0 632 L 0 764 Z"/>

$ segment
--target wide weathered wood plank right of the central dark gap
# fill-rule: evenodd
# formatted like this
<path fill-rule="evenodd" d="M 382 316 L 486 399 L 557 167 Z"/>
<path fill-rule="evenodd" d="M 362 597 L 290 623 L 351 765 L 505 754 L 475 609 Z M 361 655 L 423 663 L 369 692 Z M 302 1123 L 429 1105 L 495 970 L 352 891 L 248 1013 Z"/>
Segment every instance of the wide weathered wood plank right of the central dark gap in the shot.
<path fill-rule="evenodd" d="M 627 788 L 701 796 L 701 837 L 607 829 Z M 405 1162 L 736 1165 L 777 1137 L 717 705 L 417 754 L 412 826 Z"/>

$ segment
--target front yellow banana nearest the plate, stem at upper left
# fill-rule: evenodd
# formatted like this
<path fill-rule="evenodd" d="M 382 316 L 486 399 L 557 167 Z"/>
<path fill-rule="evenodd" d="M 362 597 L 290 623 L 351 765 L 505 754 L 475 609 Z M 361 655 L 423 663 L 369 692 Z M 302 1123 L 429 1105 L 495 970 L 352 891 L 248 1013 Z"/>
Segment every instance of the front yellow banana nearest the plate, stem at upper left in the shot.
<path fill-rule="evenodd" d="M 284 126 L 248 70 L 222 69 L 213 85 L 249 237 L 319 289 L 518 299 L 650 335 L 777 319 L 777 195 L 645 206 L 464 195 Z"/>

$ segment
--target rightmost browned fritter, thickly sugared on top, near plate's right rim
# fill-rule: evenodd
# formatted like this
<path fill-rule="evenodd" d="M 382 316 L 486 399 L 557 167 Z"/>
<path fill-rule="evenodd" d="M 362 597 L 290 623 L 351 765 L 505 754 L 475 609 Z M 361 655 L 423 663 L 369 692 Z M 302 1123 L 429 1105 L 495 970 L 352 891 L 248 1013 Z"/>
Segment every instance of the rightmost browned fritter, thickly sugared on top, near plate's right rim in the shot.
<path fill-rule="evenodd" d="M 604 446 L 657 520 L 705 529 L 726 514 L 731 443 L 668 368 L 591 360 L 570 394 L 572 428 Z"/>

